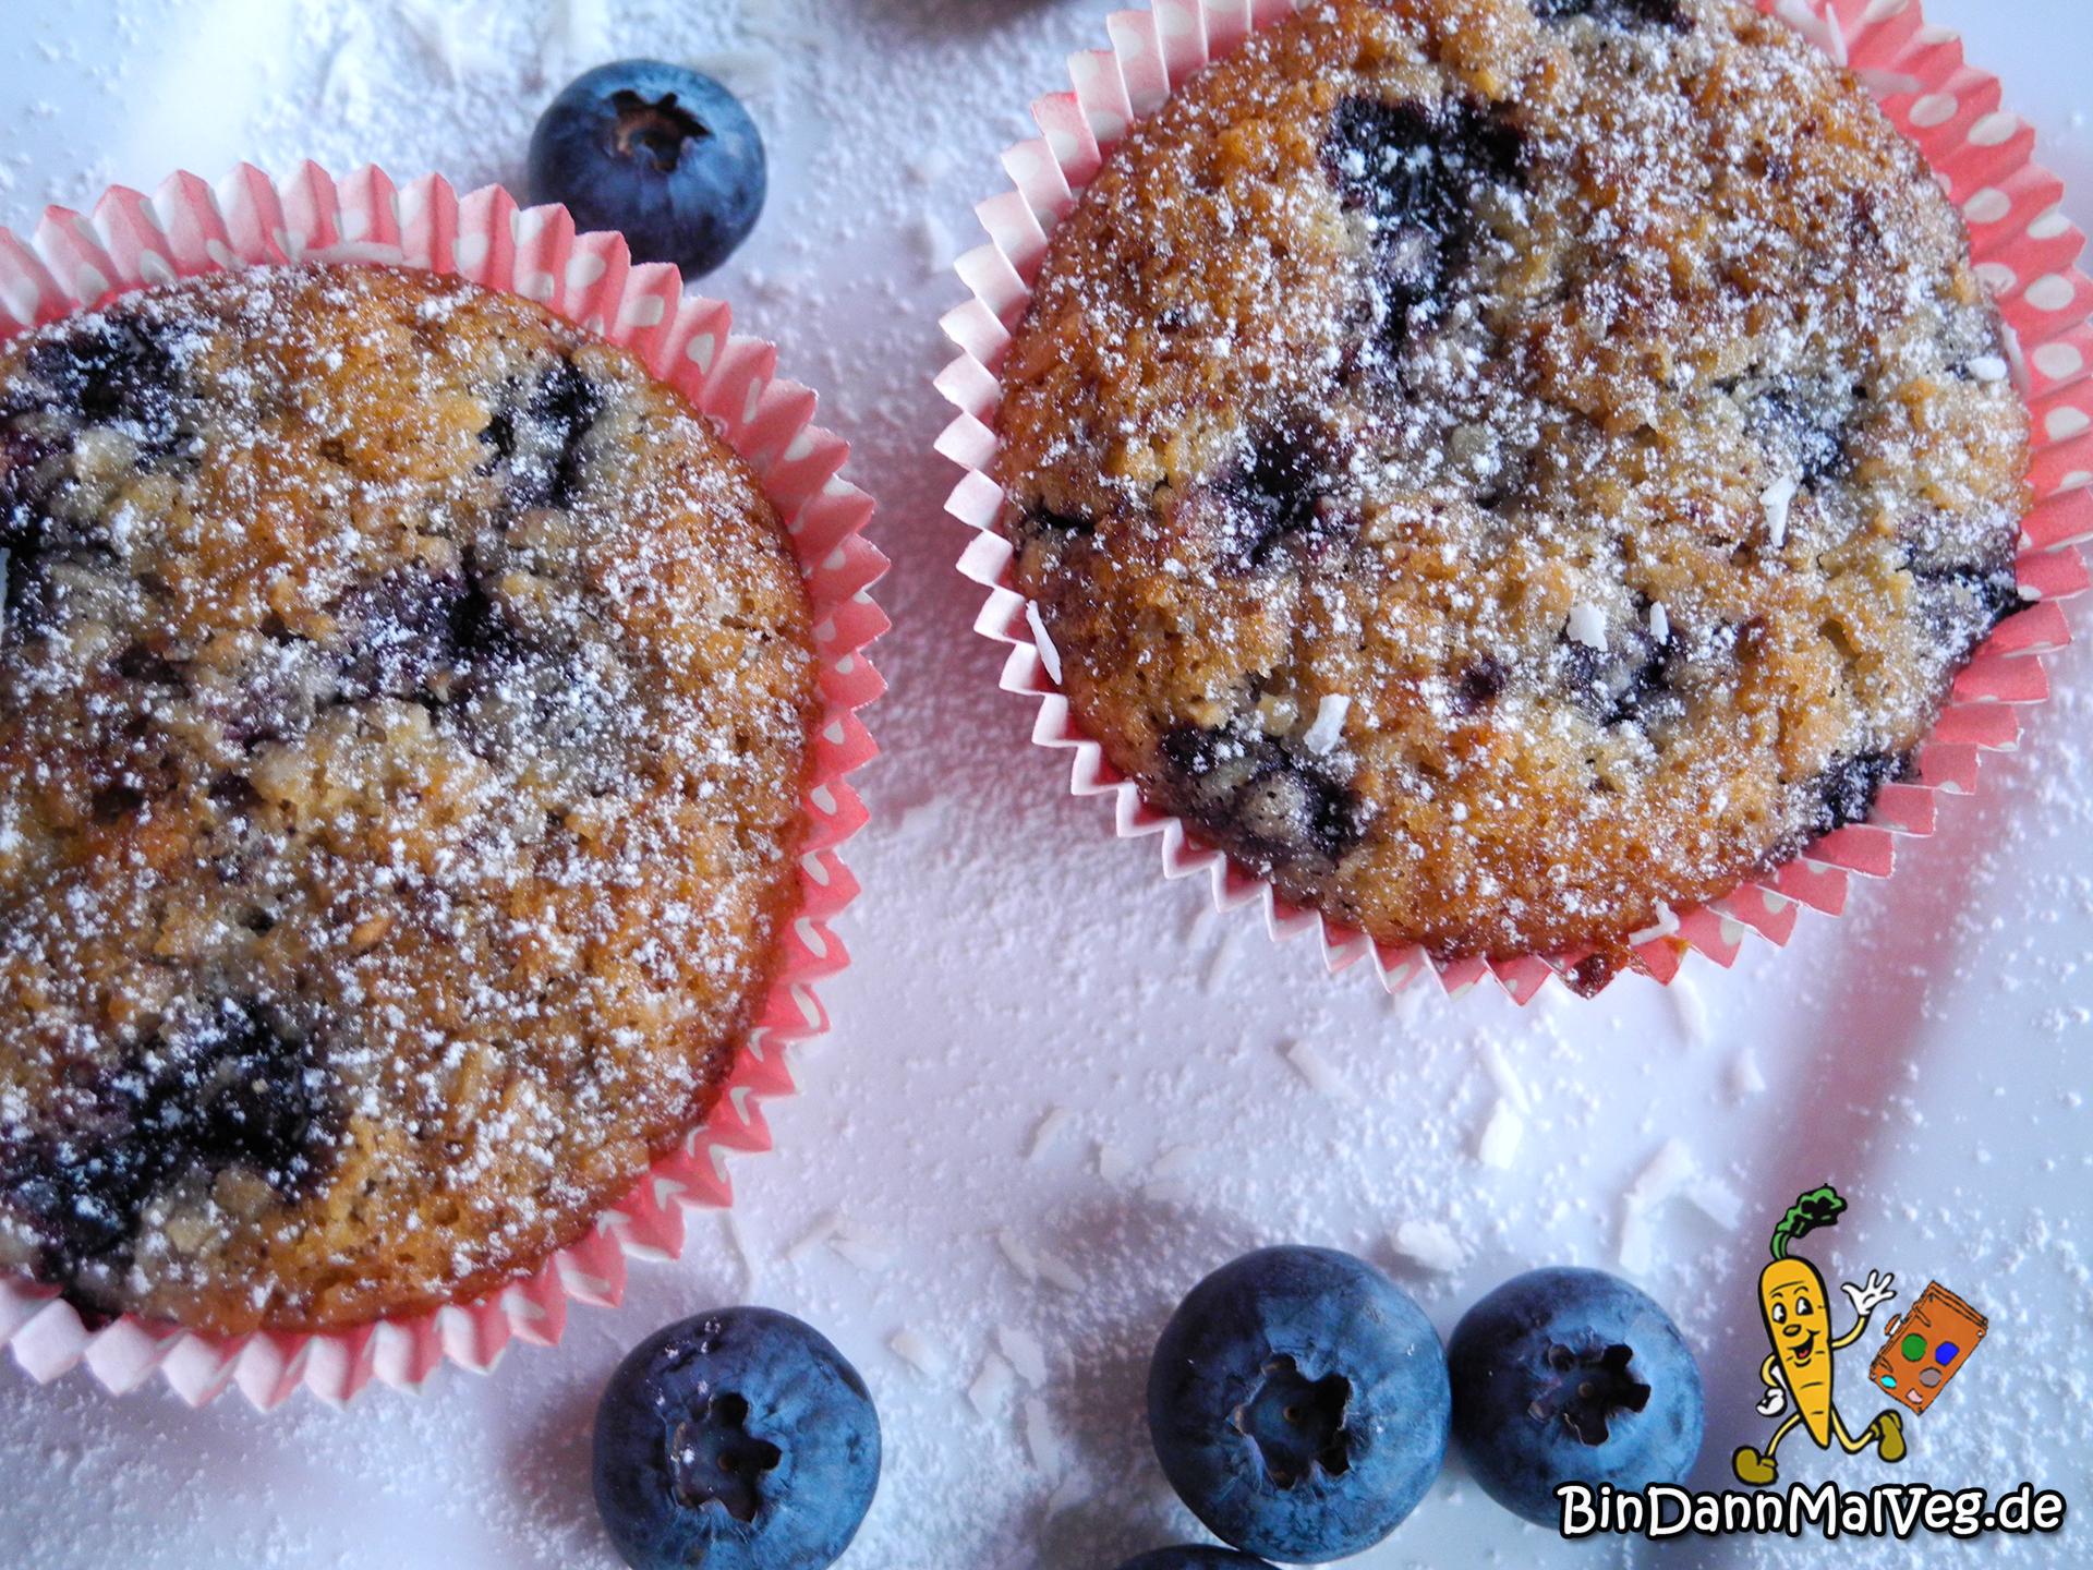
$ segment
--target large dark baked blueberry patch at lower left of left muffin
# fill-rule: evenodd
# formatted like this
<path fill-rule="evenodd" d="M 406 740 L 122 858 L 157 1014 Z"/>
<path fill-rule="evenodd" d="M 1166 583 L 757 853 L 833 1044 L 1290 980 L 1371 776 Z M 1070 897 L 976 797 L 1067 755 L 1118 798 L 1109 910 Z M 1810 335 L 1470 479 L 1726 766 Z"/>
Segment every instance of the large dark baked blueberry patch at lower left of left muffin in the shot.
<path fill-rule="evenodd" d="M 345 1114 L 312 1042 L 251 999 L 165 1028 L 123 1066 L 77 1063 L 52 1116 L 8 1141 L 0 1202 L 38 1233 L 44 1271 L 113 1262 L 170 1183 L 245 1168 L 295 1197 L 333 1160 Z"/>

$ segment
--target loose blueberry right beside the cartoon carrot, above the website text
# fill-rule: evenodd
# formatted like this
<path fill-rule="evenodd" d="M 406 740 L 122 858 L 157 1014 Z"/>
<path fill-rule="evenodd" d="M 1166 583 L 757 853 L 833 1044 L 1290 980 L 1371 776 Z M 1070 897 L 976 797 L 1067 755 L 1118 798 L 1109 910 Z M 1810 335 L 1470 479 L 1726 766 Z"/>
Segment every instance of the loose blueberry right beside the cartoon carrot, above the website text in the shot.
<path fill-rule="evenodd" d="M 1679 1482 L 1702 1384 L 1679 1327 L 1603 1271 L 1528 1271 L 1478 1302 L 1446 1348 L 1453 1432 L 1499 1505 L 1555 1526 L 1563 1482 Z"/>

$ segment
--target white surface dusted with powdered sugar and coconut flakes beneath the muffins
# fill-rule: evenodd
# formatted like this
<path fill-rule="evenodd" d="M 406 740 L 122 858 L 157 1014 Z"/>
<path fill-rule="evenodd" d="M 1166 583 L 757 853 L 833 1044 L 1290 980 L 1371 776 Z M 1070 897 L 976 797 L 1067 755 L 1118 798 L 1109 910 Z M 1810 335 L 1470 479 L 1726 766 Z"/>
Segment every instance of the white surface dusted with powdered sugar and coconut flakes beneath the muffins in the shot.
<path fill-rule="evenodd" d="M 1831 1181 L 1852 1210 L 1804 1252 L 1833 1281 L 1894 1271 L 1886 1317 L 1940 1279 L 1990 1338 L 1907 1417 L 1894 1474 L 1794 1436 L 1783 1480 L 2026 1478 L 2064 1490 L 2066 1530 L 1572 1549 L 1450 1463 L 1358 1564 L 2093 1560 L 2093 647 L 2053 661 L 2022 749 L 1944 804 L 1938 837 L 1903 846 L 1888 885 L 1838 921 L 1804 913 L 1785 952 L 1752 938 L 1733 973 L 1689 959 L 1674 994 L 1628 978 L 1526 1011 L 1425 986 L 1386 999 L 1363 973 L 1325 978 L 1308 942 L 1212 917 L 1201 885 L 1166 885 L 1153 848 L 1113 842 L 1026 743 L 1030 705 L 996 691 L 996 651 L 967 630 L 975 592 L 948 565 L 963 532 L 940 515 L 952 473 L 929 452 L 936 318 L 959 299 L 940 264 L 975 243 L 967 209 L 1003 186 L 996 153 L 1028 134 L 1032 96 L 1067 86 L 1061 59 L 1103 44 L 1107 8 L 0 8 L 0 220 L 17 228 L 50 199 L 151 188 L 176 165 L 216 178 L 237 157 L 435 167 L 465 188 L 515 174 L 573 69 L 712 59 L 753 88 L 774 161 L 764 226 L 707 293 L 823 391 L 896 559 L 877 590 L 896 630 L 875 651 L 894 691 L 869 714 L 885 756 L 858 777 L 873 825 L 850 848 L 864 898 L 841 927 L 856 965 L 825 988 L 837 1028 L 802 1059 L 802 1095 L 770 1105 L 777 1151 L 735 1166 L 735 1231 L 693 1216 L 682 1262 L 634 1264 L 626 1306 L 578 1306 L 555 1350 L 517 1346 L 492 1377 L 446 1367 L 419 1396 L 370 1388 L 347 1411 L 303 1394 L 270 1415 L 237 1394 L 188 1411 L 159 1384 L 113 1400 L 80 1371 L 38 1388 L 0 1365 L 0 1566 L 611 1566 L 586 1480 L 605 1373 L 672 1317 L 756 1300 L 823 1327 L 879 1400 L 885 1480 L 846 1566 L 1109 1570 L 1195 1530 L 1147 1453 L 1141 1377 L 1199 1275 L 1262 1241 L 1352 1248 L 1446 1333 L 1515 1271 L 1618 1269 L 1622 1193 L 1668 1137 L 1743 1202 L 1735 1231 L 1664 1208 L 1639 1277 L 1702 1356 L 1695 1482 L 1725 1486 L 1731 1449 L 1771 1430 L 1752 1413 L 1752 1283 L 1785 1204 Z M 2093 226 L 2083 0 L 1930 15 L 2005 77 Z M 2072 620 L 2093 632 L 2083 605 Z M 1530 1109 L 1492 1170 L 1476 1149 L 1507 1078 Z M 1059 1132 L 1028 1158 L 1051 1109 Z M 1386 1239 L 1404 1220 L 1442 1223 L 1465 1264 L 1402 1264 Z M 841 1252 L 823 1241 L 837 1229 Z M 1026 1281 L 1005 1229 L 1076 1289 Z M 1875 1407 L 1863 1365 L 1882 1323 L 1840 1365 L 1852 1428 Z M 940 1373 L 890 1350 L 902 1329 Z M 965 1392 L 1003 1331 L 1038 1340 L 1044 1380 L 982 1415 Z"/>

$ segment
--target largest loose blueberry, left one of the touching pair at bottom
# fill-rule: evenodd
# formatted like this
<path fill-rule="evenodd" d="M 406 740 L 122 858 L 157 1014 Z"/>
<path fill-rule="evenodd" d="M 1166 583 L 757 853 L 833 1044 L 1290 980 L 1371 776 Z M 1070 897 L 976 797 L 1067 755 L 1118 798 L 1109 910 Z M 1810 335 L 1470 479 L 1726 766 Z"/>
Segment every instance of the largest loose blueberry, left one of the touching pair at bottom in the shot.
<path fill-rule="evenodd" d="M 1289 1564 L 1396 1530 L 1438 1476 L 1446 1417 L 1432 1321 L 1329 1248 L 1222 1264 L 1149 1363 L 1149 1434 L 1170 1486 L 1216 1537 Z"/>

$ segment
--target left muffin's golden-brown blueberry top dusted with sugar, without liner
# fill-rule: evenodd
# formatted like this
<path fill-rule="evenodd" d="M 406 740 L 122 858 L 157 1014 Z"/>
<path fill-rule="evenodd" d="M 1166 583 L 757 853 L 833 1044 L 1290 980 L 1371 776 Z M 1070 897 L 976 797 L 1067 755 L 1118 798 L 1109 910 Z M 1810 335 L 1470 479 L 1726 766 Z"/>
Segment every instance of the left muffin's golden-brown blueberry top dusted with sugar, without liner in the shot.
<path fill-rule="evenodd" d="M 333 1329 L 527 1273 L 710 1105 L 816 714 L 749 469 L 456 278 L 0 354 L 0 1269 Z"/>

